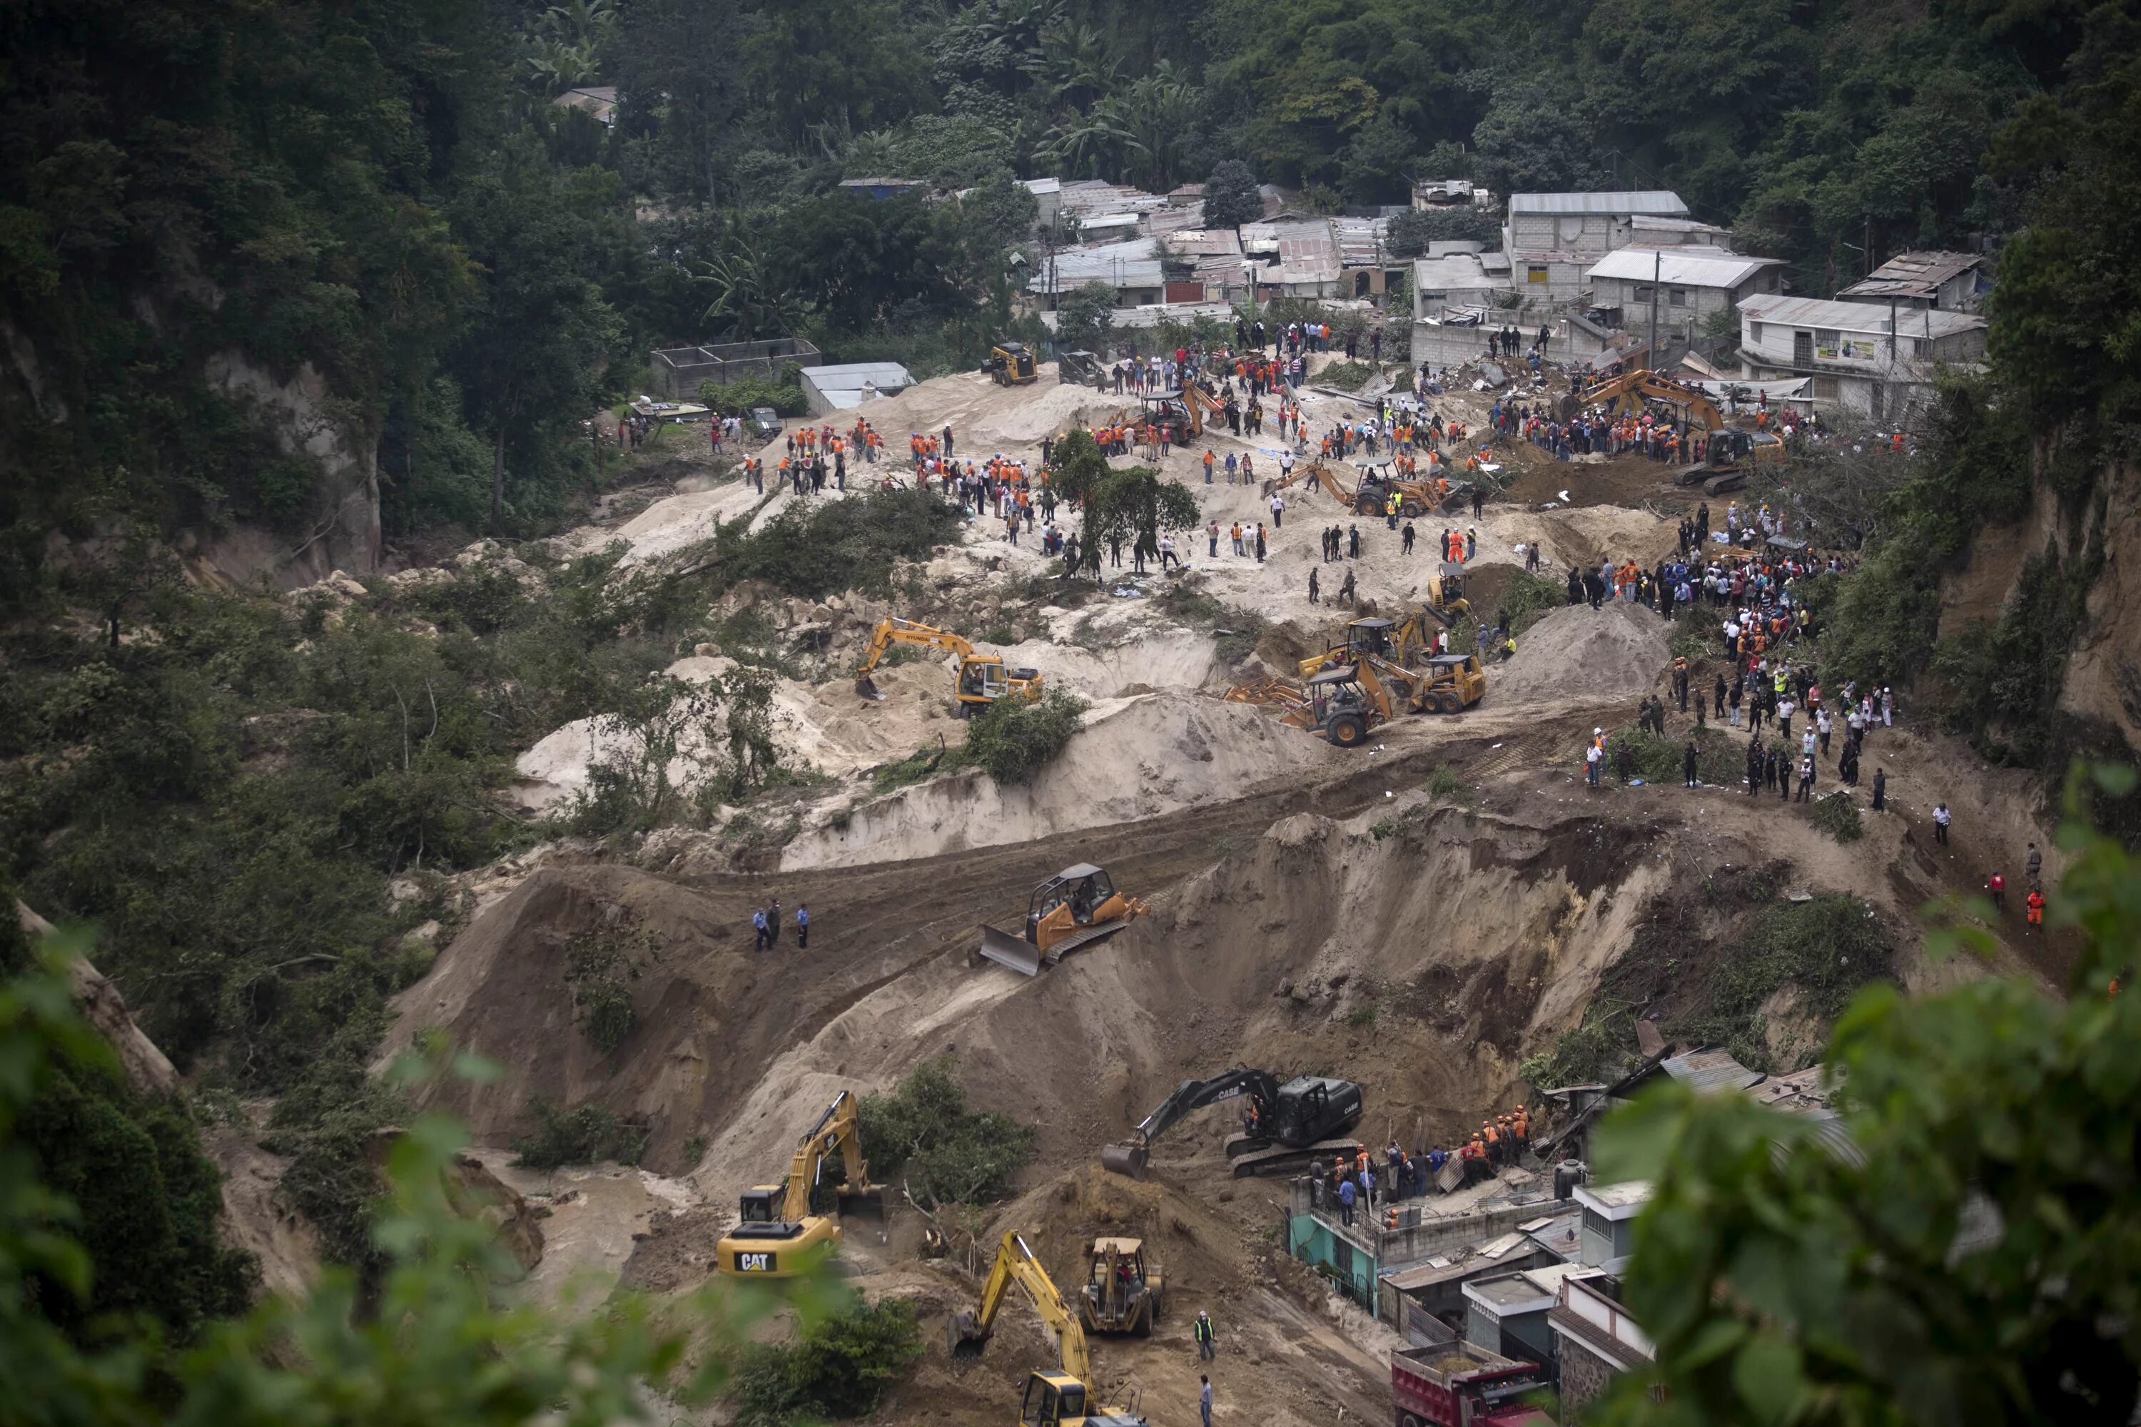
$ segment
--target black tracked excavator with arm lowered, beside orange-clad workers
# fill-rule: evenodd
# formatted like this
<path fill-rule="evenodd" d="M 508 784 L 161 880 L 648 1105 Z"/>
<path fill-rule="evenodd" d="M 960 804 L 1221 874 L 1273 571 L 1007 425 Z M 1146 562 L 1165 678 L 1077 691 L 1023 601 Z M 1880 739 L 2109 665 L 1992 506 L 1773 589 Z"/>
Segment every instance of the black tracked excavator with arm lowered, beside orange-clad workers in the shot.
<path fill-rule="evenodd" d="M 1227 1136 L 1227 1164 L 1235 1179 L 1248 1175 L 1282 1175 L 1306 1168 L 1319 1155 L 1351 1160 L 1360 1140 L 1347 1132 L 1360 1123 L 1362 1095 L 1351 1080 L 1330 1076 L 1293 1076 L 1285 1085 L 1270 1070 L 1237 1065 L 1210 1080 L 1184 1080 L 1152 1115 L 1139 1121 L 1130 1138 L 1100 1151 L 1100 1168 L 1113 1175 L 1143 1179 L 1152 1160 L 1152 1140 L 1160 1138 L 1182 1117 L 1225 1100 L 1248 1098 L 1242 1130 Z"/>

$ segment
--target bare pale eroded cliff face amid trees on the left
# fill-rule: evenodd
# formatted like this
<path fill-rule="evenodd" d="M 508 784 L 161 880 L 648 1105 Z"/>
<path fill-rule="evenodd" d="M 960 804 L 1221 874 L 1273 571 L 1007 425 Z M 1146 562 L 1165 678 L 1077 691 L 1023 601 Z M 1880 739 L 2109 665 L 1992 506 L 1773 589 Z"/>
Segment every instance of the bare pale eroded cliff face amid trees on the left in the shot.
<path fill-rule="evenodd" d="M 210 584 L 250 584 L 265 576 L 278 588 L 313 584 L 343 569 L 379 567 L 379 447 L 336 402 L 325 379 L 306 362 L 289 381 L 240 351 L 208 359 L 208 383 L 236 400 L 285 456 L 304 456 L 319 481 L 295 535 L 261 526 L 186 541 L 186 567 Z"/>

